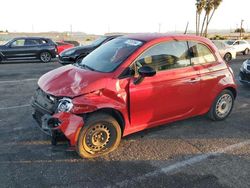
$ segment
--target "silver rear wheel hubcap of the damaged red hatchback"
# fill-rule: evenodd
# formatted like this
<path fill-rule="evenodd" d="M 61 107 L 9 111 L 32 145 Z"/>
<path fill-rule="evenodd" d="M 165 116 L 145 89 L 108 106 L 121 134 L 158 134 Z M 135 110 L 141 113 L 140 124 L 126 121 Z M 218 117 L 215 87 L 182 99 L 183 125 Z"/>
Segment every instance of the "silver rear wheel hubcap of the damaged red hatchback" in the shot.
<path fill-rule="evenodd" d="M 228 115 L 232 108 L 233 99 L 231 95 L 222 95 L 216 103 L 216 114 L 220 118 L 224 118 Z"/>

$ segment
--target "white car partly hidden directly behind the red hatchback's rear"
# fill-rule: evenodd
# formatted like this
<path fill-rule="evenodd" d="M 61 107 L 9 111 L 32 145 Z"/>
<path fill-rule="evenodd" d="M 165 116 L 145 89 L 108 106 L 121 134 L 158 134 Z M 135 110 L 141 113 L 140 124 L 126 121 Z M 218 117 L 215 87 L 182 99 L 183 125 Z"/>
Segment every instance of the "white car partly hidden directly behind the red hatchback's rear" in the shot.
<path fill-rule="evenodd" d="M 236 58 L 236 50 L 234 47 L 228 45 L 225 41 L 222 40 L 213 40 L 215 46 L 218 48 L 220 55 L 226 62 L 231 61 Z"/>

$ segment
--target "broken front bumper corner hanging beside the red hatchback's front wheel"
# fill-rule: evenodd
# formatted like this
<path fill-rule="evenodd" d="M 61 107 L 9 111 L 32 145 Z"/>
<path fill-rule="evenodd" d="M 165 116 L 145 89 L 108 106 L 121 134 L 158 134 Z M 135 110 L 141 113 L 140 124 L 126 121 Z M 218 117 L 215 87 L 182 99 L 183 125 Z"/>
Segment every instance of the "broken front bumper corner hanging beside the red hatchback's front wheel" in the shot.
<path fill-rule="evenodd" d="M 41 128 L 51 133 L 52 143 L 53 139 L 56 139 L 56 135 L 62 133 L 69 140 L 70 145 L 75 146 L 83 125 L 82 117 L 68 112 L 60 112 L 53 116 L 43 116 Z"/>

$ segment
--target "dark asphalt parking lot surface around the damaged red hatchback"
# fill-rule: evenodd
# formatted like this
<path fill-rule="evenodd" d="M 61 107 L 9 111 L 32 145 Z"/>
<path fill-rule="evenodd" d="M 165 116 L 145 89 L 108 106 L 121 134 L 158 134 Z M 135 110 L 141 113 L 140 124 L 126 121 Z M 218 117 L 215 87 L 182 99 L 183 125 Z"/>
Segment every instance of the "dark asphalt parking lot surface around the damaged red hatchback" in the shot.
<path fill-rule="evenodd" d="M 244 59 L 229 63 L 236 79 Z M 81 159 L 50 144 L 32 119 L 38 78 L 57 62 L 0 64 L 1 187 L 250 187 L 250 87 L 238 83 L 232 114 L 127 136 L 113 153 Z"/>

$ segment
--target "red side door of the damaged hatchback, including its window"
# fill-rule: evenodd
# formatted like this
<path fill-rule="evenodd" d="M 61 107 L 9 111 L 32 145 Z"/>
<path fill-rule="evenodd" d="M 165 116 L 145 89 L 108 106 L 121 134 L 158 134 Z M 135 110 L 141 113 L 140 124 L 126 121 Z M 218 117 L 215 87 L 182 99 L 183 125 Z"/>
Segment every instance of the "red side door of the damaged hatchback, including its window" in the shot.
<path fill-rule="evenodd" d="M 131 79 L 132 126 L 151 127 L 172 119 L 192 116 L 199 103 L 200 78 L 190 63 L 186 41 L 170 41 L 146 50 L 134 62 L 135 69 L 151 66 L 157 73 L 135 84 Z"/>

